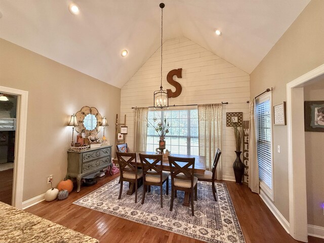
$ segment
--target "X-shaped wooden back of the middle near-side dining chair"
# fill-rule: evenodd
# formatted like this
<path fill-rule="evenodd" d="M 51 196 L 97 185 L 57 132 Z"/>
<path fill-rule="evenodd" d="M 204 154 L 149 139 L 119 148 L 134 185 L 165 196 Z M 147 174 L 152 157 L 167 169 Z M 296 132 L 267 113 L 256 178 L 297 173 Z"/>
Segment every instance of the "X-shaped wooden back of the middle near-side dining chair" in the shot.
<path fill-rule="evenodd" d="M 139 154 L 141 159 L 141 167 L 143 173 L 146 175 L 161 175 L 162 170 L 156 167 L 161 165 L 163 155 L 162 154 Z"/>

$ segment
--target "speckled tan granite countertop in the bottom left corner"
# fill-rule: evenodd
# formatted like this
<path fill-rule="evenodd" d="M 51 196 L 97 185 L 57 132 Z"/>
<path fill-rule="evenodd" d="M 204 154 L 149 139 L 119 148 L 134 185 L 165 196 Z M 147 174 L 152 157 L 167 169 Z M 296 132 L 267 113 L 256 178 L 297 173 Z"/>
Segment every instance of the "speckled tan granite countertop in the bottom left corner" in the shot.
<path fill-rule="evenodd" d="M 0 243 L 97 243 L 99 240 L 0 202 Z"/>

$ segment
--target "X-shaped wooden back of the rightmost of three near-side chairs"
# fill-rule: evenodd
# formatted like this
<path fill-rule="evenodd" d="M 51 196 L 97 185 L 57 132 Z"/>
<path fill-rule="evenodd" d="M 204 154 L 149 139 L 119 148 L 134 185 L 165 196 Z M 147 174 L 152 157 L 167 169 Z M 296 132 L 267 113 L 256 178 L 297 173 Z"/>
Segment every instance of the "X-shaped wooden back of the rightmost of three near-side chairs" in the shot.
<path fill-rule="evenodd" d="M 195 158 L 183 158 L 168 156 L 171 172 L 171 180 L 191 180 L 193 182 L 194 160 Z M 183 177 L 182 174 L 185 175 Z"/>

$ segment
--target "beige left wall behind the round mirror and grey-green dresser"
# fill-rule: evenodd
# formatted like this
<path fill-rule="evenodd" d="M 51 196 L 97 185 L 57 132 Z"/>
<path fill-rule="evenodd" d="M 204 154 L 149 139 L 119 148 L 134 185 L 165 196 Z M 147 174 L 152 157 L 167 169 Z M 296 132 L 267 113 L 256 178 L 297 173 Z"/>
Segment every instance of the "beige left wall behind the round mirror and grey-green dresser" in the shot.
<path fill-rule="evenodd" d="M 65 177 L 72 136 L 66 125 L 83 106 L 96 107 L 107 117 L 106 134 L 113 145 L 120 89 L 4 39 L 0 39 L 0 86 L 29 92 L 23 201 L 45 193 L 50 174 L 54 186 Z"/>

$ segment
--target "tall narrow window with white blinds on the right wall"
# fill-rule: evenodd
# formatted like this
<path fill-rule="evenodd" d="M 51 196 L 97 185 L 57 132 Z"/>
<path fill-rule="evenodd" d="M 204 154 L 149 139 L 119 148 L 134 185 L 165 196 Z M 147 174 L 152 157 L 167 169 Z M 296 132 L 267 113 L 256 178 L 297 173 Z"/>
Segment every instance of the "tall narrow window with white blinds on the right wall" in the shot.
<path fill-rule="evenodd" d="M 260 187 L 273 199 L 271 94 L 256 101 L 257 157 Z"/>

